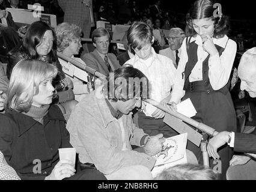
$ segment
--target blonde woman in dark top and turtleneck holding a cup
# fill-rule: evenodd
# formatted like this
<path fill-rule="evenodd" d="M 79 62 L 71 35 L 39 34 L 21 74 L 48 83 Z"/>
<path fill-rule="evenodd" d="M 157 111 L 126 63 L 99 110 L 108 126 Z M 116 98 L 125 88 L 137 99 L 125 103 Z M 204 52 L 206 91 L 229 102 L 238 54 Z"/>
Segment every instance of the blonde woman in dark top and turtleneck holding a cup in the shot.
<path fill-rule="evenodd" d="M 75 173 L 71 161 L 59 160 L 58 149 L 72 145 L 61 110 L 50 105 L 57 73 L 54 65 L 38 60 L 15 65 L 0 115 L 0 151 L 21 179 L 105 179 L 95 169 Z"/>

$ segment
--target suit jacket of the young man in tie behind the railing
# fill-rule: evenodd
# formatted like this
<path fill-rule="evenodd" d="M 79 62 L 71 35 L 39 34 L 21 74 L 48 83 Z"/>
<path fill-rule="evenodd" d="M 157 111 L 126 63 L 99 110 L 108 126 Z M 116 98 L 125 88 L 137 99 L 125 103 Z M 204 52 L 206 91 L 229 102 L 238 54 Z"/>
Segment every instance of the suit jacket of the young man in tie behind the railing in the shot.
<path fill-rule="evenodd" d="M 117 57 L 113 53 L 108 53 L 108 58 L 110 60 L 109 64 L 111 65 L 112 71 L 121 67 L 117 61 Z M 81 56 L 81 59 L 85 62 L 85 64 L 87 64 L 88 67 L 94 68 L 105 76 L 109 75 L 108 67 L 96 49 L 91 53 L 85 53 L 83 56 Z"/>

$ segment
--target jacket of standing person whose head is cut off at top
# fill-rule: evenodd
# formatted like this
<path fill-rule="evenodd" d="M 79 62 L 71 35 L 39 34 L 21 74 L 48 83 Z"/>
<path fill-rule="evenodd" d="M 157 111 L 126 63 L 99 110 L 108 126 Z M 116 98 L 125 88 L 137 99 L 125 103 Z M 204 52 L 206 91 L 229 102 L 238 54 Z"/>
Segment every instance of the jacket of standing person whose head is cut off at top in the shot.
<path fill-rule="evenodd" d="M 90 8 L 82 0 L 58 0 L 64 11 L 64 22 L 74 23 L 82 28 L 84 38 L 90 38 L 91 16 Z"/>

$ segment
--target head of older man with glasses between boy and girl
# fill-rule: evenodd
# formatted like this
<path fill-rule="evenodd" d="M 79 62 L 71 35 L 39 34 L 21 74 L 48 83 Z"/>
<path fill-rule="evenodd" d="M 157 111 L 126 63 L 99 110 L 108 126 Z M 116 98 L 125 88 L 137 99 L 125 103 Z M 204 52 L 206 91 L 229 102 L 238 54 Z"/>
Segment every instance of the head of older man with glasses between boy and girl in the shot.
<path fill-rule="evenodd" d="M 178 50 L 186 37 L 185 32 L 180 28 L 171 28 L 167 37 L 171 50 Z"/>

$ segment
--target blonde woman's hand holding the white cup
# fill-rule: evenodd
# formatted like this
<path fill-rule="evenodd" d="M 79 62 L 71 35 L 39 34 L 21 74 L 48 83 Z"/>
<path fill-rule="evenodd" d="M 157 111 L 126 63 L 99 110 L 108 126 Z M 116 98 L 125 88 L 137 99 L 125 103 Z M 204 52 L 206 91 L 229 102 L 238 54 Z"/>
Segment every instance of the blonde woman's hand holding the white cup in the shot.
<path fill-rule="evenodd" d="M 72 161 L 61 160 L 44 180 L 62 180 L 64 178 L 70 178 L 70 176 L 75 175 L 75 172 L 76 170 L 72 166 Z"/>

